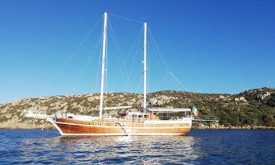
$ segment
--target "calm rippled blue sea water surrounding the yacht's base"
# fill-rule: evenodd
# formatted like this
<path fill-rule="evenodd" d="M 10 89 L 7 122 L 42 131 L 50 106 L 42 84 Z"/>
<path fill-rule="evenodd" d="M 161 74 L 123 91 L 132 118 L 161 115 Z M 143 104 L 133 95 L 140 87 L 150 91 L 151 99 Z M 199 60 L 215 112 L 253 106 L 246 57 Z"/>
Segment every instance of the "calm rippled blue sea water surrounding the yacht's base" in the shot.
<path fill-rule="evenodd" d="M 52 131 L 0 130 L 0 163 L 275 164 L 275 130 L 130 137 L 61 137 Z"/>

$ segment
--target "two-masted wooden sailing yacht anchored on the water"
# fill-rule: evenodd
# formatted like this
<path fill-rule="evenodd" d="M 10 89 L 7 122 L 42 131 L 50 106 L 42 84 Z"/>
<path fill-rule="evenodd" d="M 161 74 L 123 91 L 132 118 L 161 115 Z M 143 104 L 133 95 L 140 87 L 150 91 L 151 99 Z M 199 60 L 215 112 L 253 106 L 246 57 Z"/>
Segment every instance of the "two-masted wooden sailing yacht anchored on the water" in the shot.
<path fill-rule="evenodd" d="M 61 135 L 182 135 L 190 131 L 193 115 L 190 108 L 147 107 L 147 23 L 144 22 L 143 59 L 143 109 L 129 112 L 121 118 L 104 118 L 103 110 L 130 108 L 131 106 L 103 107 L 107 13 L 103 15 L 102 63 L 99 116 L 67 115 L 62 118 L 48 118 Z M 193 109 L 192 109 L 193 111 Z M 169 117 L 167 114 L 184 114 Z M 162 114 L 162 116 L 161 116 Z M 163 115 L 165 114 L 165 115 Z M 164 117 L 163 117 L 164 116 Z"/>

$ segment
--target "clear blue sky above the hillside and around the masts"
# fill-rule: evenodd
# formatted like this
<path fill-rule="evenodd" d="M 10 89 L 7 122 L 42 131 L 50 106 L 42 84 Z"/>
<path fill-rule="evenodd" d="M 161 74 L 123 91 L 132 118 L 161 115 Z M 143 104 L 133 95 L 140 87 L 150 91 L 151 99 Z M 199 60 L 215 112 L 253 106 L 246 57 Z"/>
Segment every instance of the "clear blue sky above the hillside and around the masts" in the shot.
<path fill-rule="evenodd" d="M 168 70 L 188 91 L 234 94 L 275 87 L 274 1 L 0 0 L 0 102 L 97 92 L 99 49 L 77 85 L 73 82 L 100 37 L 102 21 L 50 82 L 104 11 L 147 21 Z M 112 16 L 109 21 L 126 59 L 142 24 Z M 111 35 L 108 39 L 107 91 L 141 92 L 141 45 L 125 60 L 123 72 Z M 152 38 L 148 42 L 149 91 L 183 90 L 169 78 L 157 88 L 167 70 L 157 63 Z M 131 86 L 125 86 L 130 70 Z"/>

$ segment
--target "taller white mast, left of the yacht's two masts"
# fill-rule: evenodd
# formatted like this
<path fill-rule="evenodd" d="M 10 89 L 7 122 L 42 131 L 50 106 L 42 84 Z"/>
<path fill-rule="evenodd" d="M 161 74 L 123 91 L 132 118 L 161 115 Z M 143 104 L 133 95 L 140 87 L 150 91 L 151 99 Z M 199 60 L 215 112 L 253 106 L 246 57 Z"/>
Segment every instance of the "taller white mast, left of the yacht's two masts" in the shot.
<path fill-rule="evenodd" d="M 102 119 L 103 111 L 103 93 L 104 93 L 104 73 L 105 73 L 105 53 L 106 53 L 106 33 L 107 33 L 107 13 L 104 13 L 103 22 L 103 42 L 102 42 L 102 64 L 101 64 L 101 87 L 100 87 L 100 103 L 99 118 Z"/>

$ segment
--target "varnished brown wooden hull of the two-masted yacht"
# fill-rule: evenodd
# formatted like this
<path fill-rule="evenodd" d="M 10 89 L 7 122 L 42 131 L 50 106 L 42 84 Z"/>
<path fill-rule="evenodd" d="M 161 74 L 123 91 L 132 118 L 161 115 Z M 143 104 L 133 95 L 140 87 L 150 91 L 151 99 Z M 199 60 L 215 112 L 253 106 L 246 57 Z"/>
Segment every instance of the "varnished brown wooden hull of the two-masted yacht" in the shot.
<path fill-rule="evenodd" d="M 61 135 L 182 135 L 190 131 L 189 123 L 145 124 L 129 121 L 51 121 Z"/>

